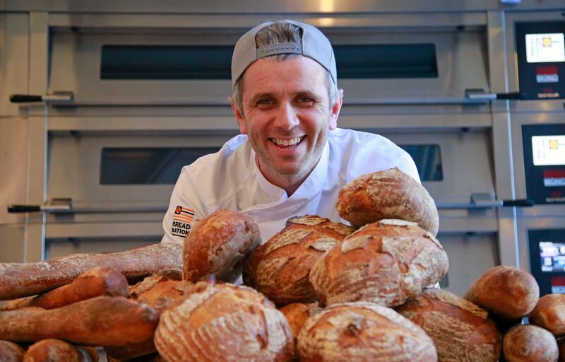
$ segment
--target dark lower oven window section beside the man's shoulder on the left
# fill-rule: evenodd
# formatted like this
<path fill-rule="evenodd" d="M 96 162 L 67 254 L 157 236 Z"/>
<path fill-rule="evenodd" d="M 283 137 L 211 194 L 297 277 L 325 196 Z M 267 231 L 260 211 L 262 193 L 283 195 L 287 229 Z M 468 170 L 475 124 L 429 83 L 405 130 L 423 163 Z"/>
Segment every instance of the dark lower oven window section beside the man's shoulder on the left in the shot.
<path fill-rule="evenodd" d="M 102 148 L 100 184 L 174 184 L 183 166 L 218 150 L 218 147 Z"/>

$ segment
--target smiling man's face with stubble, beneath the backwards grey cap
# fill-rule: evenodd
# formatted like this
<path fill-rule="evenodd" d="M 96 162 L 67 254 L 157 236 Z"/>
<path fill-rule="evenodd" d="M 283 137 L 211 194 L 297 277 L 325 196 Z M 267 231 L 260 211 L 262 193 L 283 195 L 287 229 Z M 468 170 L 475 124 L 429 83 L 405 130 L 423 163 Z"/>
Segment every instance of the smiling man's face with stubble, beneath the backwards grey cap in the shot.
<path fill-rule="evenodd" d="M 314 169 L 335 129 L 341 98 L 330 107 L 326 70 L 307 57 L 263 58 L 244 74 L 242 110 L 234 113 L 267 180 L 287 189 Z"/>

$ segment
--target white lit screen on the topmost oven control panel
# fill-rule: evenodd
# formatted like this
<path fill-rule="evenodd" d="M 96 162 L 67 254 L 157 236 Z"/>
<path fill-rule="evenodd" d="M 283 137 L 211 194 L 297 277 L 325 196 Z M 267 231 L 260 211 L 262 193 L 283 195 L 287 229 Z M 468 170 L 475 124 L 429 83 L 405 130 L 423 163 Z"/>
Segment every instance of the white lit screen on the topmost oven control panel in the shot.
<path fill-rule="evenodd" d="M 563 33 L 526 34 L 525 49 L 528 63 L 565 62 Z"/>

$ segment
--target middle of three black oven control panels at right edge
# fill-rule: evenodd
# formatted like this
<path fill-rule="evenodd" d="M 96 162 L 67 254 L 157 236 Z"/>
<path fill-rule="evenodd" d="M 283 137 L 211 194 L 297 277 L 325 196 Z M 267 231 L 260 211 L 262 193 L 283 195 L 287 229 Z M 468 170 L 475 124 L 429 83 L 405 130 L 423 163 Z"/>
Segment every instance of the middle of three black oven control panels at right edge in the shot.
<path fill-rule="evenodd" d="M 534 204 L 565 204 L 565 123 L 523 124 L 527 198 Z"/>

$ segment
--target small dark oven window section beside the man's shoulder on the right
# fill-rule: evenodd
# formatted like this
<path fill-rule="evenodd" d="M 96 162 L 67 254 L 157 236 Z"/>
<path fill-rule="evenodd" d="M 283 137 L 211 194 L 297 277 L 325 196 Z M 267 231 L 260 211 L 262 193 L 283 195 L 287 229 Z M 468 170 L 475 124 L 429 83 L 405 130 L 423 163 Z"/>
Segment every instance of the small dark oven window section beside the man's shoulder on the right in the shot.
<path fill-rule="evenodd" d="M 444 180 L 444 171 L 441 168 L 441 152 L 437 144 L 410 144 L 398 145 L 412 156 L 416 163 L 420 180 Z"/>

